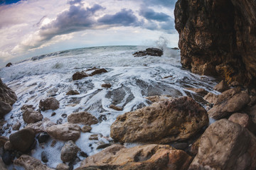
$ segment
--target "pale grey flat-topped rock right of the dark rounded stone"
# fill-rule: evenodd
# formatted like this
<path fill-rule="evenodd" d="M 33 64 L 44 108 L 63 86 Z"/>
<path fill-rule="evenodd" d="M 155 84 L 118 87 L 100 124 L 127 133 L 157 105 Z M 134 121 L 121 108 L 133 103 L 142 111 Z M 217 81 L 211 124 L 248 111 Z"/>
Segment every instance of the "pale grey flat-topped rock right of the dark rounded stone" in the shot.
<path fill-rule="evenodd" d="M 46 128 L 46 132 L 56 140 L 75 141 L 80 137 L 80 126 L 71 123 L 53 125 Z"/>

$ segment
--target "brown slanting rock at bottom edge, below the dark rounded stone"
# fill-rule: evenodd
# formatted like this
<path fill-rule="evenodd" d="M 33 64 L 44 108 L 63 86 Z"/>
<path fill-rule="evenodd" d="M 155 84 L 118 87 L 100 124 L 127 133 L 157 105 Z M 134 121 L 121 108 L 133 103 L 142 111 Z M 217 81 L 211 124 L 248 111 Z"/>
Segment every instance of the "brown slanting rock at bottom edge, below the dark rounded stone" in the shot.
<path fill-rule="evenodd" d="M 23 166 L 26 170 L 54 170 L 41 163 L 40 160 L 28 156 L 26 154 L 21 155 L 18 159 L 14 160 L 14 164 L 17 166 Z"/>

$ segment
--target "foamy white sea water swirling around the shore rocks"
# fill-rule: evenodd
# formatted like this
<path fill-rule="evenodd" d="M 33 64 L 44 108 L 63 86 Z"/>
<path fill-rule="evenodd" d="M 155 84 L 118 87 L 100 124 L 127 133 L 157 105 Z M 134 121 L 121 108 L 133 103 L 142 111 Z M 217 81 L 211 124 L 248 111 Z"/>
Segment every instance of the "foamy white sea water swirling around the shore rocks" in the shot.
<path fill-rule="evenodd" d="M 14 109 L 5 116 L 8 122 L 4 127 L 15 124 L 17 120 L 21 123 L 21 128 L 25 127 L 21 107 L 24 104 L 33 105 L 37 110 L 41 99 L 54 96 L 60 101 L 60 108 L 54 111 L 54 116 L 51 116 L 53 111 L 42 111 L 44 118 L 49 118 L 54 123 L 61 118 L 65 123 L 67 118 L 61 115 L 87 111 L 100 120 L 91 126 L 91 132 L 81 132 L 80 139 L 75 142 L 82 151 L 92 155 L 100 152 L 101 149 L 96 149 L 100 142 L 108 143 L 112 140 L 110 125 L 118 115 L 150 105 L 146 96 L 191 96 L 206 107 L 202 96 L 186 88 L 203 88 L 214 94 L 218 93 L 213 91 L 213 86 L 217 84 L 213 77 L 192 74 L 181 67 L 179 50 L 164 48 L 162 57 L 132 55 L 145 49 L 144 46 L 87 47 L 32 57 L 1 69 L 1 79 L 18 96 Z M 92 67 L 105 68 L 108 72 L 72 80 L 75 72 Z M 105 89 L 102 84 L 111 84 L 112 87 Z M 70 90 L 77 90 L 80 95 L 66 96 Z M 114 111 L 110 104 L 122 107 L 123 111 Z M 15 131 L 6 129 L 2 135 L 9 136 L 10 132 Z M 102 137 L 99 140 L 89 140 L 93 134 L 101 134 Z M 51 140 L 43 146 L 44 149 L 41 145 L 36 145 L 32 156 L 41 159 L 41 152 L 44 150 L 49 160 L 46 164 L 55 168 L 62 163 L 60 149 L 64 142 L 57 142 L 55 147 L 50 147 L 50 144 Z M 132 147 L 137 144 L 125 145 Z M 75 164 L 75 168 L 79 165 L 79 162 Z"/>

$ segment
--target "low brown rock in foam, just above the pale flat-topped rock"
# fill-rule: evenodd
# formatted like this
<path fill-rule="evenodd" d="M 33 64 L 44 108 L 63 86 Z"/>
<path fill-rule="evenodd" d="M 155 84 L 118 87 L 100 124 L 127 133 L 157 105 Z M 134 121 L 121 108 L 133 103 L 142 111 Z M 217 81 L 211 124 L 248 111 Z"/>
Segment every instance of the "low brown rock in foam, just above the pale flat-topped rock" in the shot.
<path fill-rule="evenodd" d="M 68 115 L 68 123 L 79 123 L 82 125 L 94 125 L 98 123 L 94 115 L 87 112 L 71 113 Z"/>

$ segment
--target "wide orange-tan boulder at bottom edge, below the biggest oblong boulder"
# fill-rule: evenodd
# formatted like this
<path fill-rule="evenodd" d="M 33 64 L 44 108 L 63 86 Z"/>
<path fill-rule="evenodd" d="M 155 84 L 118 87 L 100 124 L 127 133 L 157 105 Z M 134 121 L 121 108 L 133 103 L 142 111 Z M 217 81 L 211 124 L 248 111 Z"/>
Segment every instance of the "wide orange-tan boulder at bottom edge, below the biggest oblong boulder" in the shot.
<path fill-rule="evenodd" d="M 79 170 L 98 167 L 110 169 L 188 169 L 192 158 L 181 150 L 169 145 L 143 145 L 125 148 L 122 145 L 112 145 L 102 152 L 87 157 Z M 77 170 L 78 170 L 77 169 Z"/>

